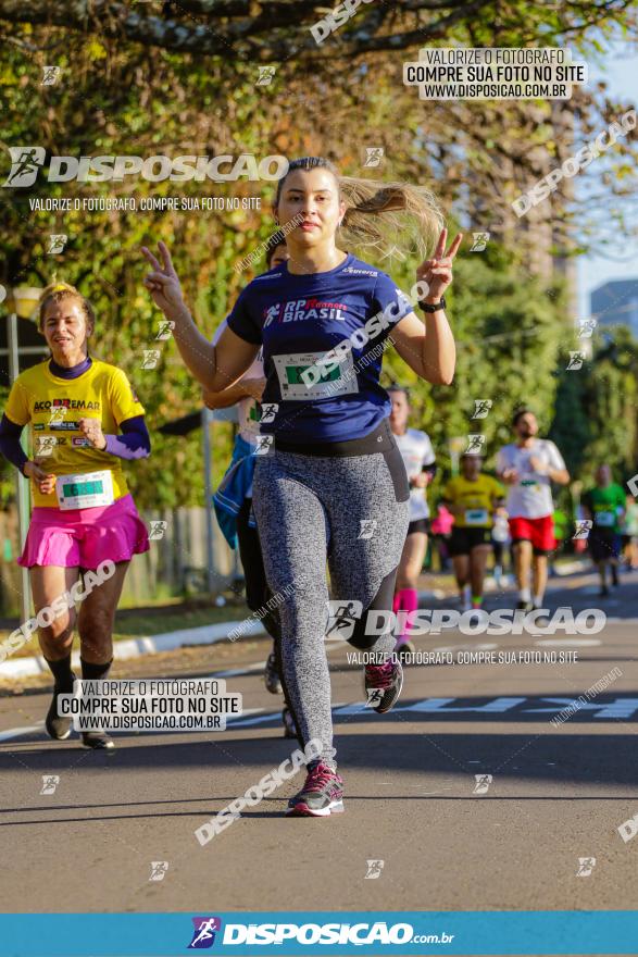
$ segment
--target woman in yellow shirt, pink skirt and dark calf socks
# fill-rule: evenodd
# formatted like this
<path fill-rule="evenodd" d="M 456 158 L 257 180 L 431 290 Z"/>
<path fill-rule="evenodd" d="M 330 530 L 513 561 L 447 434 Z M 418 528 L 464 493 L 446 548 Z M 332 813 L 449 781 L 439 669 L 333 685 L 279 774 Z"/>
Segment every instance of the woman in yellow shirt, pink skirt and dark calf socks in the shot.
<path fill-rule="evenodd" d="M 74 627 L 83 679 L 103 680 L 126 570 L 134 554 L 149 548 L 121 464 L 150 453 L 145 410 L 121 369 L 88 355 L 95 321 L 73 286 L 45 289 L 39 327 L 51 358 L 17 376 L 0 424 L 0 452 L 30 480 L 35 505 L 18 563 L 29 569 L 36 617 L 10 636 L 10 652 L 38 627 L 54 678 L 46 728 L 58 741 L 71 734 L 72 720 L 59 714 L 58 699 L 73 692 Z M 25 425 L 30 460 L 20 444 Z M 0 661 L 4 657 L 5 649 Z M 84 732 L 82 743 L 113 747 L 98 731 Z"/>

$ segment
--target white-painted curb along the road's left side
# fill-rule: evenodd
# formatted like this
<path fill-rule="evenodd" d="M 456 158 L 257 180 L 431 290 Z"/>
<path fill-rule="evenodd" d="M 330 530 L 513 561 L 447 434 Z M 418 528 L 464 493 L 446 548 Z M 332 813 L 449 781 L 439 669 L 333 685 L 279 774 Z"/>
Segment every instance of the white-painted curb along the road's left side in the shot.
<path fill-rule="evenodd" d="M 238 621 L 226 621 L 220 624 L 204 624 L 195 629 L 183 629 L 177 632 L 165 632 L 161 635 L 152 635 L 142 638 L 127 638 L 124 642 L 115 642 L 113 650 L 117 661 L 126 661 L 129 658 L 141 658 L 145 655 L 154 655 L 158 651 L 173 651 L 185 645 L 216 645 L 217 642 L 228 639 L 232 629 L 240 624 Z M 264 634 L 261 622 L 255 621 L 246 626 L 242 637 Z M 74 668 L 79 668 L 79 651 L 74 651 L 71 658 Z M 49 674 L 49 668 L 41 655 L 29 658 L 16 658 L 14 661 L 5 661 L 0 664 L 0 681 L 12 678 L 30 678 L 34 674 Z"/>

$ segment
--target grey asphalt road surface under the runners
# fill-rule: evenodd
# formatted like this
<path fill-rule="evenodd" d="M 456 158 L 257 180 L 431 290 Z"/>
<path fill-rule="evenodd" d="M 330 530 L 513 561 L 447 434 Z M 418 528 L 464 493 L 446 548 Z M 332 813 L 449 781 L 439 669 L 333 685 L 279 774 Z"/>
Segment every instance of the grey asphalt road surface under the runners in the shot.
<path fill-rule="evenodd" d="M 77 737 L 46 737 L 49 692 L 37 683 L 1 697 L 1 910 L 635 909 L 638 840 L 617 829 L 638 813 L 637 585 L 638 573 L 626 575 L 609 599 L 592 576 L 552 585 L 550 609 L 605 608 L 608 624 L 589 637 L 418 638 L 420 651 L 451 649 L 454 663 L 411 666 L 399 706 L 383 717 L 363 707 L 349 648 L 333 645 L 346 812 L 286 818 L 300 773 L 204 847 L 195 829 L 296 747 L 261 679 L 265 642 L 114 670 L 239 672 L 227 685 L 242 693 L 243 717 L 214 735 L 116 735 L 113 754 L 91 753 Z M 477 649 L 577 660 L 458 660 Z M 605 692 L 552 724 L 614 669 Z M 53 793 L 41 794 L 43 775 L 59 776 Z M 167 862 L 161 880 L 150 879 L 153 861 Z M 368 861 L 383 861 L 377 877 L 366 877 Z"/>

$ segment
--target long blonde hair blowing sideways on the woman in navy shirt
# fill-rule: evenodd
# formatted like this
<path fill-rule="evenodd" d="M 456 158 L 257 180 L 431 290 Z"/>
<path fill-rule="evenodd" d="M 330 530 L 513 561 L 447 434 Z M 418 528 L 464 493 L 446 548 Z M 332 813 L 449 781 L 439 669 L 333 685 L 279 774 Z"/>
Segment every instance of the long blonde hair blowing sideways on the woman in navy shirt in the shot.
<path fill-rule="evenodd" d="M 340 176 L 335 164 L 323 157 L 302 157 L 289 163 L 286 175 L 277 184 L 275 207 L 288 173 L 316 169 L 333 174 L 339 186 L 339 198 L 346 203 L 346 214 L 337 233 L 341 245 L 354 247 L 364 257 L 396 248 L 402 254 L 425 258 L 434 249 L 445 225 L 434 192 L 425 186 L 408 183 Z"/>

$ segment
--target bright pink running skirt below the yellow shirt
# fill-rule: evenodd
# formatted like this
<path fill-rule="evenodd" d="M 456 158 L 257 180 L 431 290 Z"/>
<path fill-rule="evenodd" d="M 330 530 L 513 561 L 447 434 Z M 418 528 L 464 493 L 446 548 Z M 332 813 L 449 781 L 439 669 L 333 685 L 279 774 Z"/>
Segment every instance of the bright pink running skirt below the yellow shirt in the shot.
<path fill-rule="evenodd" d="M 107 560 L 129 561 L 149 550 L 147 527 L 132 495 L 90 509 L 38 507 L 33 510 L 24 551 L 25 568 L 54 564 L 95 571 Z"/>

